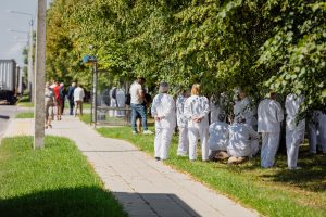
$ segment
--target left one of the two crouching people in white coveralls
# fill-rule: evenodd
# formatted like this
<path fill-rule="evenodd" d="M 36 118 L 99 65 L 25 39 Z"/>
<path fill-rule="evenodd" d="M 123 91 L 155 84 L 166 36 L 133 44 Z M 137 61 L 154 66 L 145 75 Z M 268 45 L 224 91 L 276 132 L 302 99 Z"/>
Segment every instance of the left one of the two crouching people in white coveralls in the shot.
<path fill-rule="evenodd" d="M 222 159 L 228 157 L 228 124 L 225 120 L 225 114 L 218 114 L 218 119 L 210 125 L 209 128 L 209 158 Z M 224 153 L 222 153 L 224 152 Z M 217 154 L 218 153 L 218 154 Z M 216 155 L 217 154 L 217 155 Z"/>

